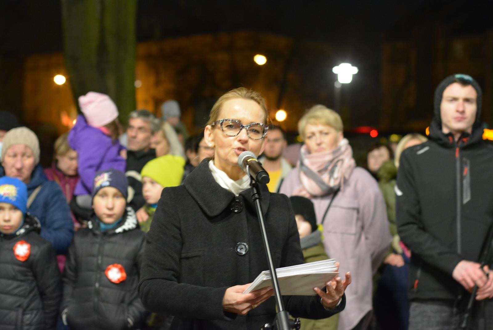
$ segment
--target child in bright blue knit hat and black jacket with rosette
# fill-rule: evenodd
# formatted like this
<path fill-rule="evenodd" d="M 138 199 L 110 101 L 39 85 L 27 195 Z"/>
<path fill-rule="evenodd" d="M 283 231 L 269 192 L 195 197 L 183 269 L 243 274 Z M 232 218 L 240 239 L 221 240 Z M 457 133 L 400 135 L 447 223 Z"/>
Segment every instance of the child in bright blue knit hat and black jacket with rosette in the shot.
<path fill-rule="evenodd" d="M 21 320 L 25 328 L 55 329 L 62 298 L 60 269 L 55 250 L 39 236 L 39 221 L 27 213 L 27 199 L 25 183 L 0 178 L 1 325 L 17 329 Z"/>

